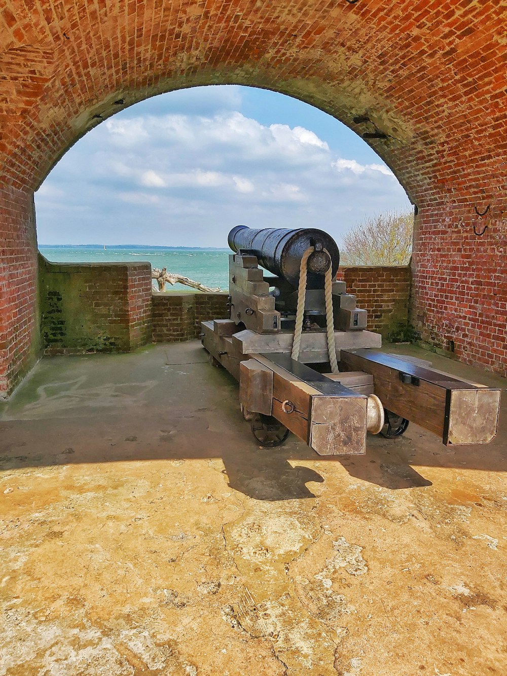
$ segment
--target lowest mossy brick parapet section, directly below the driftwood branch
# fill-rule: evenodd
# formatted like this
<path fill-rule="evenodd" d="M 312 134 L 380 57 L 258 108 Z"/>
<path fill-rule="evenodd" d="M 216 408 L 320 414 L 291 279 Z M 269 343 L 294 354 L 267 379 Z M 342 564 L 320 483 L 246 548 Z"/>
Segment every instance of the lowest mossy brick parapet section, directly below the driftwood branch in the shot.
<path fill-rule="evenodd" d="M 153 342 L 192 340 L 201 322 L 228 318 L 227 293 L 153 293 Z"/>

